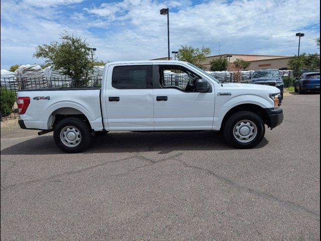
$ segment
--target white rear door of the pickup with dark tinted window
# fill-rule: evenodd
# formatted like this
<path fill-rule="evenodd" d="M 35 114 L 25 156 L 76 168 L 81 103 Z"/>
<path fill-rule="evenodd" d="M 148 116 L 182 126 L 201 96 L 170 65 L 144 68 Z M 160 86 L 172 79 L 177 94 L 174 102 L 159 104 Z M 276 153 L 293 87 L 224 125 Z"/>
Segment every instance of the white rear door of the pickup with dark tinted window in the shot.
<path fill-rule="evenodd" d="M 153 131 L 152 65 L 111 65 L 107 80 L 109 130 Z"/>

